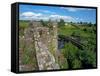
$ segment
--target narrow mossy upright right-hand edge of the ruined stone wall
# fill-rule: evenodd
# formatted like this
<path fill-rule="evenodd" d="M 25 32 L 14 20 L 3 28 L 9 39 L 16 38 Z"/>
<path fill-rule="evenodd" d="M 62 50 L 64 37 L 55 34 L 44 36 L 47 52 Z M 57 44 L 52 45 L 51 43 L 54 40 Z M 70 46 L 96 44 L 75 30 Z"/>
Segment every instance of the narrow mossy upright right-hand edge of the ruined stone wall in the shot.
<path fill-rule="evenodd" d="M 55 59 L 56 59 L 56 62 L 58 62 L 58 34 L 57 34 L 57 22 L 50 22 L 49 23 L 49 26 L 51 26 L 51 29 L 50 29 L 50 34 L 49 34 L 49 40 L 50 40 L 50 43 L 51 45 L 50 48 L 52 48 L 52 50 L 50 50 L 52 52 L 52 54 L 54 55 Z"/>

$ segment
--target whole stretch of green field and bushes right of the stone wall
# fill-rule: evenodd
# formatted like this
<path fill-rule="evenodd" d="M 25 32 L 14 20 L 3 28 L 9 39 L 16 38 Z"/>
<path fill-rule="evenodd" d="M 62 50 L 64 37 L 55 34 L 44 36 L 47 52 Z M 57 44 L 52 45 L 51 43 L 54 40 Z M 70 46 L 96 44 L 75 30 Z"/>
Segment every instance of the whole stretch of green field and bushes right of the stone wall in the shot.
<path fill-rule="evenodd" d="M 67 69 L 96 67 L 96 26 L 67 24 L 58 28 L 58 34 L 78 39 L 83 49 L 71 42 L 65 43 L 61 53 L 67 60 Z M 63 65 L 62 65 L 63 66 Z"/>

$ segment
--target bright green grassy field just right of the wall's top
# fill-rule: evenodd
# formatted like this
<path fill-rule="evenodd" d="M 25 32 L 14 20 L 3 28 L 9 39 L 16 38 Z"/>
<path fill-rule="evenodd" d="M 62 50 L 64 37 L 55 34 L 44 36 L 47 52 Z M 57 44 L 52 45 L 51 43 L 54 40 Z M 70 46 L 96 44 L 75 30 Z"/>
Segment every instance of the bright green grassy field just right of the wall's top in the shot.
<path fill-rule="evenodd" d="M 81 27 L 81 29 L 77 29 L 73 26 L 63 26 L 63 27 L 60 27 L 58 28 L 58 34 L 59 35 L 65 35 L 65 36 L 71 36 L 73 32 L 78 32 L 80 33 L 81 35 L 80 36 L 84 36 L 84 37 L 89 37 L 90 33 L 89 32 L 84 32 L 82 29 L 83 28 L 86 28 L 87 30 L 90 30 L 91 28 L 90 27 Z"/>

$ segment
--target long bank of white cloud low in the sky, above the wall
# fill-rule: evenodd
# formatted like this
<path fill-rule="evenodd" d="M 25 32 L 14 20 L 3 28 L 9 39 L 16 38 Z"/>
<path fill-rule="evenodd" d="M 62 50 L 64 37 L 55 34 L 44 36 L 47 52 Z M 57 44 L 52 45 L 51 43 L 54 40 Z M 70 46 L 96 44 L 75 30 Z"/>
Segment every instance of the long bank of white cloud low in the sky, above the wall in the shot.
<path fill-rule="evenodd" d="M 48 11 L 46 11 L 48 12 Z M 59 14 L 42 14 L 42 13 L 35 13 L 35 12 L 23 12 L 20 15 L 20 19 L 22 20 L 60 20 L 64 19 L 65 21 L 72 21 L 74 20 L 71 16 L 66 15 L 59 15 Z"/>

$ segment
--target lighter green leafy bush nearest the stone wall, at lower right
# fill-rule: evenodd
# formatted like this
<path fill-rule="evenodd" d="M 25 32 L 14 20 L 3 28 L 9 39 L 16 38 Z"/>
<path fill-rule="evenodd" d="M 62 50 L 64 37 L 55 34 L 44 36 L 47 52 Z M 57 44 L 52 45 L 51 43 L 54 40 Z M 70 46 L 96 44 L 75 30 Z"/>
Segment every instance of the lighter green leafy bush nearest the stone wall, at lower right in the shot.
<path fill-rule="evenodd" d="M 64 54 L 64 57 L 68 62 L 69 69 L 81 67 L 81 62 L 78 60 L 77 57 L 78 52 L 79 49 L 72 43 L 65 44 L 64 48 L 62 49 L 62 54 Z"/>

